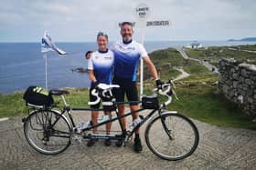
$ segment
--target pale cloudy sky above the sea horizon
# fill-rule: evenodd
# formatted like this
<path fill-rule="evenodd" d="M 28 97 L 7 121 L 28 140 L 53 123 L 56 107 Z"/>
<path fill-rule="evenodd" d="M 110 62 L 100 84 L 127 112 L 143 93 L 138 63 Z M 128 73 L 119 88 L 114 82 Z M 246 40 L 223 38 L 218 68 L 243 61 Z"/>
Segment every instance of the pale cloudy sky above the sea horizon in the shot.
<path fill-rule="evenodd" d="M 8 0 L 0 5 L 0 42 L 38 42 L 45 30 L 58 42 L 93 42 L 99 31 L 116 41 L 118 23 L 136 21 L 141 3 L 150 9 L 148 21 L 172 23 L 145 28 L 146 41 L 256 36 L 254 0 Z M 134 30 L 140 38 L 142 29 Z"/>

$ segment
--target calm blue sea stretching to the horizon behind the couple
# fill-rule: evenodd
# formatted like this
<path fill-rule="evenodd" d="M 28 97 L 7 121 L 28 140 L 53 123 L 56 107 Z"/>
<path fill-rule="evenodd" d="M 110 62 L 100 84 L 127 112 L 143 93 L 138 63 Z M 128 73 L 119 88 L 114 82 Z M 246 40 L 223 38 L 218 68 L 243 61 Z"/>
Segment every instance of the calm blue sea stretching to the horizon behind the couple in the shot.
<path fill-rule="evenodd" d="M 168 47 L 181 47 L 192 41 L 155 41 L 145 42 L 148 53 Z M 254 45 L 256 42 L 242 41 L 201 41 L 203 46 L 221 45 Z M 111 43 L 110 43 L 111 44 Z M 59 56 L 48 52 L 47 57 L 41 54 L 40 43 L 0 43 L 0 93 L 10 94 L 24 91 L 29 85 L 46 86 L 46 68 L 48 88 L 89 87 L 90 79 L 86 73 L 72 72 L 78 67 L 87 68 L 84 55 L 88 50 L 97 50 L 94 42 L 56 43 L 68 52 Z"/>

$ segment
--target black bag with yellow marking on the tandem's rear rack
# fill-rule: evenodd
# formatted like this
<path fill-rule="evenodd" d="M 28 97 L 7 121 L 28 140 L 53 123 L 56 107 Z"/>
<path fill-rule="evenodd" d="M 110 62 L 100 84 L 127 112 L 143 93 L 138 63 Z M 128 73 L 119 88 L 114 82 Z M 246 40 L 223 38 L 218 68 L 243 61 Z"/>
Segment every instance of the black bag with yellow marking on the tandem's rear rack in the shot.
<path fill-rule="evenodd" d="M 48 89 L 37 86 L 29 86 L 23 95 L 23 99 L 27 105 L 50 106 L 53 104 L 53 98 L 49 95 Z"/>

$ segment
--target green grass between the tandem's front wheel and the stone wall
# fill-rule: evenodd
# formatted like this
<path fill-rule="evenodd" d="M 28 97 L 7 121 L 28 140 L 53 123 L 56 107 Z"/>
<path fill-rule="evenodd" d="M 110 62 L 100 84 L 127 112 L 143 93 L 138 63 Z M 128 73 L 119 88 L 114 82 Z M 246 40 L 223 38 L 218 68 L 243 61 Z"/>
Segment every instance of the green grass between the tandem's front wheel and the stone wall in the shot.
<path fill-rule="evenodd" d="M 180 87 L 177 90 L 179 101 L 174 101 L 168 109 L 210 125 L 240 127 L 256 130 L 256 124 L 240 108 L 219 94 L 218 88 L 208 86 Z"/>

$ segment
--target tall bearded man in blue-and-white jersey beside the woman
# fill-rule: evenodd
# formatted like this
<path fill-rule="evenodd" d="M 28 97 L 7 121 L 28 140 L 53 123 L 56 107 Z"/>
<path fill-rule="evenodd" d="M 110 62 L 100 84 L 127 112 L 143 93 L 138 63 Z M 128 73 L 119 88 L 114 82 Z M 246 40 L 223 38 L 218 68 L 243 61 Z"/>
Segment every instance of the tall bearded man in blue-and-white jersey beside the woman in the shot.
<path fill-rule="evenodd" d="M 114 71 L 113 71 L 113 85 L 120 85 L 120 88 L 114 89 L 114 95 L 117 102 L 124 101 L 126 94 L 128 101 L 138 101 L 138 91 L 136 87 L 137 66 L 142 57 L 144 64 L 147 66 L 151 75 L 155 78 L 156 85 L 161 85 L 162 82 L 158 79 L 155 65 L 148 57 L 144 46 L 133 41 L 133 25 L 129 22 L 123 22 L 121 25 L 121 35 L 123 41 L 117 42 L 113 45 L 112 51 L 114 53 Z M 130 104 L 131 111 L 139 109 L 138 104 Z M 120 115 L 124 115 L 124 105 L 118 105 Z M 138 113 L 133 114 L 133 120 L 139 117 Z M 126 119 L 122 119 L 123 129 L 126 130 Z M 120 142 L 120 141 L 119 141 Z M 122 142 L 122 141 L 121 141 Z M 143 150 L 139 130 L 135 132 L 134 151 L 141 152 Z"/>

